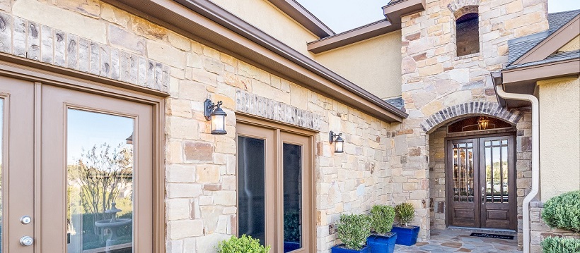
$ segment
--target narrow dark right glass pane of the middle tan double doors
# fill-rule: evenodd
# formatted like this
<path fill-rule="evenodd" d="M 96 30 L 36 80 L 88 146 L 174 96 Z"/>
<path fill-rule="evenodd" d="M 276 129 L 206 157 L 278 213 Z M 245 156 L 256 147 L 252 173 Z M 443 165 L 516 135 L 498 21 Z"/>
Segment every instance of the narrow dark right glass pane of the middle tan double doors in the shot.
<path fill-rule="evenodd" d="M 302 246 L 302 147 L 284 143 L 284 252 Z"/>

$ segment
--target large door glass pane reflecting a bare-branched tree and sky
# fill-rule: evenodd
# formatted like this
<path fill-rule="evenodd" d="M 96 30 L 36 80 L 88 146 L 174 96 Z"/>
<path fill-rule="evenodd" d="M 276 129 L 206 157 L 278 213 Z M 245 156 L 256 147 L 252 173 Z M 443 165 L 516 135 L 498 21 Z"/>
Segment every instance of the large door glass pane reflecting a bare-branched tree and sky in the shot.
<path fill-rule="evenodd" d="M 67 121 L 67 252 L 132 252 L 134 119 L 69 109 Z"/>

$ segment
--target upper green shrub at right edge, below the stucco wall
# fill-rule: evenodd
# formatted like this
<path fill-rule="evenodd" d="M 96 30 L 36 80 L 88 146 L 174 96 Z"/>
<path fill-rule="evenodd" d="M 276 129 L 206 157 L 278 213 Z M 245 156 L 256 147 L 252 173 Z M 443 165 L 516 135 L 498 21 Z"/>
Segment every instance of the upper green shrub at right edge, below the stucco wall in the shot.
<path fill-rule="evenodd" d="M 580 190 L 552 197 L 544 204 L 542 218 L 550 228 L 580 232 Z"/>

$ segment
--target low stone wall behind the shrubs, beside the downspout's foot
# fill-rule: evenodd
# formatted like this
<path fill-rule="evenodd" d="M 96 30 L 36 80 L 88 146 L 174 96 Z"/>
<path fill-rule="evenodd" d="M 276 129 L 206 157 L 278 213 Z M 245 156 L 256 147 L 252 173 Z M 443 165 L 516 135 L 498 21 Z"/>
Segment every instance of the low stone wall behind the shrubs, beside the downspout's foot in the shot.
<path fill-rule="evenodd" d="M 580 239 L 580 233 L 572 233 L 568 230 L 559 228 L 550 228 L 542 219 L 542 210 L 544 209 L 543 202 L 530 202 L 530 226 L 531 235 L 530 252 L 542 252 L 542 240 L 545 237 L 574 237 Z"/>

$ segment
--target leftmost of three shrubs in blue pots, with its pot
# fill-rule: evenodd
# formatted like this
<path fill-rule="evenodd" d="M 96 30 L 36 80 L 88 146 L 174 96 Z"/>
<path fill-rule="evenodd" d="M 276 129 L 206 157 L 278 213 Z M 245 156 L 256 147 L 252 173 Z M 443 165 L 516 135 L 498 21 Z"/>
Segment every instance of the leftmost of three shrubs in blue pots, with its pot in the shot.
<path fill-rule="evenodd" d="M 366 214 L 341 214 L 337 227 L 342 245 L 332 247 L 332 253 L 370 253 L 365 245 L 371 235 L 371 219 Z"/>

